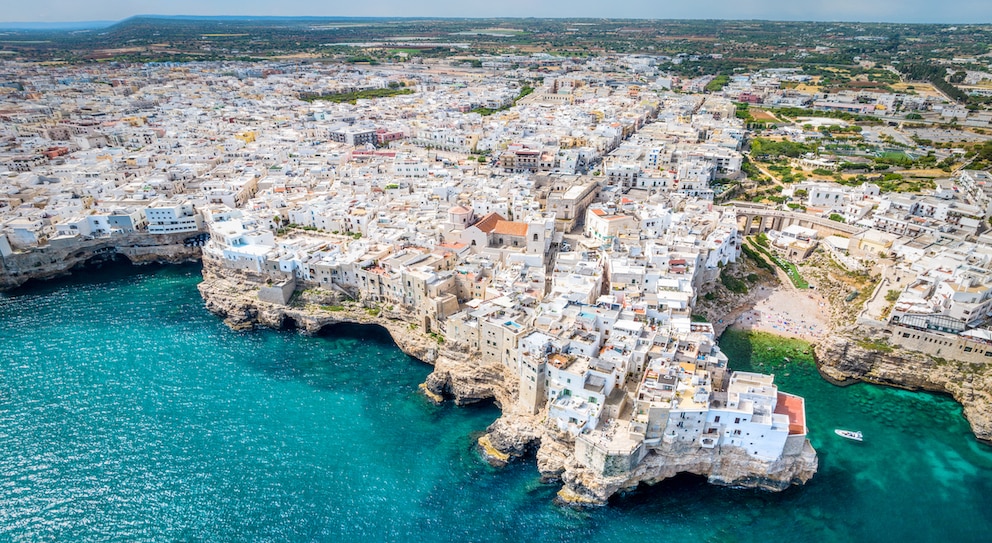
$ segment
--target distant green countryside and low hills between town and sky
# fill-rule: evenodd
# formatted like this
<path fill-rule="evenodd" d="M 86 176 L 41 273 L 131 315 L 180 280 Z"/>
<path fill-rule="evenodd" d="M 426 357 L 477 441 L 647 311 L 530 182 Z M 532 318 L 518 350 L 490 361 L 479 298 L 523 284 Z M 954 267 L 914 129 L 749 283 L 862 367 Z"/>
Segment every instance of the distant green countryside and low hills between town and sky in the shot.
<path fill-rule="evenodd" d="M 636 53 L 658 62 L 674 59 L 666 69 L 686 77 L 801 68 L 832 83 L 837 79 L 832 70 L 843 67 L 876 86 L 896 76 L 866 63 L 941 68 L 972 59 L 958 66 L 985 69 L 992 43 L 992 25 L 754 19 L 140 15 L 121 21 L 0 23 L 0 34 L 5 60 L 70 64 L 273 58 L 394 63 L 514 52 L 569 58 Z"/>

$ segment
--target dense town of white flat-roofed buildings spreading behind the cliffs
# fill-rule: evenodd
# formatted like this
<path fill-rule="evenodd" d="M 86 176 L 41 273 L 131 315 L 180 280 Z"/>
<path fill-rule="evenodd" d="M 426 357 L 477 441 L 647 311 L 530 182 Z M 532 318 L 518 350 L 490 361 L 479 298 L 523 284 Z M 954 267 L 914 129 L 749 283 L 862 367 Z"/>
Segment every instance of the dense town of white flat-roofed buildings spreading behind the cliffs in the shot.
<path fill-rule="evenodd" d="M 847 301 L 881 347 L 992 359 L 992 116 L 922 83 L 661 63 L 7 61 L 4 270 L 182 243 L 259 303 L 358 306 L 502 366 L 504 412 L 621 480 L 649 455 L 815 471 L 803 398 L 734 371 L 695 311 L 707 285 L 748 288 L 743 261 L 799 289 L 814 252 L 878 274 Z"/>

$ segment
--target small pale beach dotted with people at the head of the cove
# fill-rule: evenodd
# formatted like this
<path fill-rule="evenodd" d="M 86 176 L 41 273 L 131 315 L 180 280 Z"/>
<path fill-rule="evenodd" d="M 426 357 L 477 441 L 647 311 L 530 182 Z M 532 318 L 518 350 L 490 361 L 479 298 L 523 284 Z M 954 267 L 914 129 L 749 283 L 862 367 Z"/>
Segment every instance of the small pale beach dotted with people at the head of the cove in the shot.
<path fill-rule="evenodd" d="M 733 328 L 816 342 L 830 333 L 829 307 L 813 290 L 763 287 L 751 309 L 729 315 Z"/>

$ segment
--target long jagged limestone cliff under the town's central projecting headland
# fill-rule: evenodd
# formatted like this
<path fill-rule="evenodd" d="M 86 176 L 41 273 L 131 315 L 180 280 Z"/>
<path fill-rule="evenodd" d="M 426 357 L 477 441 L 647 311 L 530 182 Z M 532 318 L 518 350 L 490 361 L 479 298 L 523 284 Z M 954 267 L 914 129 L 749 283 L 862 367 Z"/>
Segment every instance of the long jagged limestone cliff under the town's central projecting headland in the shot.
<path fill-rule="evenodd" d="M 207 263 L 199 289 L 207 309 L 234 329 L 285 328 L 291 324 L 303 333 L 314 334 L 337 323 L 385 328 L 403 352 L 434 366 L 421 385 L 428 398 L 451 399 L 458 405 L 493 401 L 499 406 L 502 415 L 479 439 L 480 452 L 494 466 L 533 455 L 542 480 L 562 485 L 558 493 L 562 503 L 603 505 L 618 492 L 683 472 L 705 476 L 713 484 L 777 491 L 805 483 L 817 469 L 816 453 L 807 441 L 800 454 L 775 462 L 757 460 L 743 452 L 728 454 L 698 447 L 667 453 L 651 449 L 634 469 L 604 476 L 579 461 L 574 437 L 545 424 L 545 411 L 532 415 L 517 408 L 518 378 L 502 364 L 483 362 L 457 345 L 440 343 L 419 330 L 402 311 L 381 310 L 377 314 L 356 303 L 328 306 L 300 299 L 279 305 L 259 300 L 261 285 L 252 285 L 238 277 L 222 277 Z"/>

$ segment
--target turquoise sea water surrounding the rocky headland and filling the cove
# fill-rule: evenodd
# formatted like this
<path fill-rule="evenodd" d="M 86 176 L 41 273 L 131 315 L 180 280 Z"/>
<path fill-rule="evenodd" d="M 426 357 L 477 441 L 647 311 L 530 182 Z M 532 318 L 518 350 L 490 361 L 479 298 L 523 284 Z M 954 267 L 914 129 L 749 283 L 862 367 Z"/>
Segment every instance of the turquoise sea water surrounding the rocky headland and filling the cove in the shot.
<path fill-rule="evenodd" d="M 195 266 L 125 266 L 0 294 L 0 541 L 992 538 L 992 448 L 961 409 L 831 386 L 798 343 L 722 345 L 806 396 L 808 485 L 681 476 L 574 511 L 532 459 L 488 467 L 473 443 L 498 410 L 430 404 L 430 368 L 378 328 L 232 332 L 199 281 Z"/>

